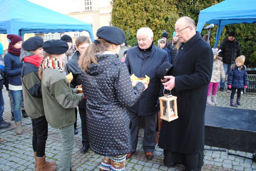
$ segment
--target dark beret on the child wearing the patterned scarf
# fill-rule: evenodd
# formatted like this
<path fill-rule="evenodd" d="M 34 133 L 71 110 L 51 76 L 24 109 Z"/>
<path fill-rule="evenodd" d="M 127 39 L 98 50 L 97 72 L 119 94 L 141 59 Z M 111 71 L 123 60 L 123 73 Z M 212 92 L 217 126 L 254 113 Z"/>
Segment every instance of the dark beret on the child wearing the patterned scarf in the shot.
<path fill-rule="evenodd" d="M 63 40 L 48 40 L 42 47 L 47 53 L 56 55 L 63 54 L 69 49 L 69 45 Z"/>

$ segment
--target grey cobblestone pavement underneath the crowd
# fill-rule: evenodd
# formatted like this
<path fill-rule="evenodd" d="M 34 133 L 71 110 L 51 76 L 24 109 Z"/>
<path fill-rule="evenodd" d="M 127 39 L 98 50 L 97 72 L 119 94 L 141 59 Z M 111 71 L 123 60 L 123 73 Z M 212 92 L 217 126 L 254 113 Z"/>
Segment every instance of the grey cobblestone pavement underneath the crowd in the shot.
<path fill-rule="evenodd" d="M 5 100 L 5 108 L 3 118 L 10 122 L 11 112 L 9 107 L 9 98 L 7 91 L 3 89 Z M 230 107 L 230 92 L 218 91 L 217 106 Z M 243 94 L 241 96 L 241 106 L 237 108 L 256 110 L 256 95 Z M 16 135 L 15 124 L 12 121 L 11 126 L 7 129 L 0 129 L 0 137 L 6 141 L 0 144 L 0 170 L 16 171 L 16 170 L 33 170 L 34 158 L 32 149 L 32 124 L 30 118 L 22 118 L 23 134 Z M 59 154 L 61 151 L 61 140 L 58 129 L 49 127 L 48 140 L 46 142 L 46 159 L 55 160 L 59 164 Z M 91 149 L 86 154 L 80 153 L 81 143 L 81 121 L 78 115 L 78 135 L 75 135 L 75 148 L 72 155 L 72 169 L 76 171 L 94 171 L 98 170 L 103 156 L 96 155 Z M 139 142 L 137 152 L 128 159 L 126 170 L 128 171 L 178 171 L 185 169 L 182 165 L 175 167 L 166 167 L 163 165 L 163 149 L 156 146 L 154 158 L 147 160 L 142 149 L 143 129 L 139 132 Z M 206 148 L 218 149 L 216 147 L 205 146 Z M 227 149 L 227 152 L 236 153 L 251 157 L 251 153 L 243 151 L 234 151 Z M 252 160 L 229 156 L 223 151 L 204 151 L 204 166 L 202 170 L 206 171 L 256 171 L 256 163 Z"/>

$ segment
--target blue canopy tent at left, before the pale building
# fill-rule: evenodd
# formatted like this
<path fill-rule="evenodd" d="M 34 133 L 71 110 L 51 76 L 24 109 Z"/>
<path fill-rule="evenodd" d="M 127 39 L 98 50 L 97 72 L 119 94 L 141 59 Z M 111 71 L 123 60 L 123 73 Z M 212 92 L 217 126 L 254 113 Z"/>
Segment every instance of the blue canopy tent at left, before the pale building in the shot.
<path fill-rule="evenodd" d="M 57 13 L 27 0 L 0 0 L 0 33 L 63 33 L 87 31 L 94 41 L 91 24 Z"/>

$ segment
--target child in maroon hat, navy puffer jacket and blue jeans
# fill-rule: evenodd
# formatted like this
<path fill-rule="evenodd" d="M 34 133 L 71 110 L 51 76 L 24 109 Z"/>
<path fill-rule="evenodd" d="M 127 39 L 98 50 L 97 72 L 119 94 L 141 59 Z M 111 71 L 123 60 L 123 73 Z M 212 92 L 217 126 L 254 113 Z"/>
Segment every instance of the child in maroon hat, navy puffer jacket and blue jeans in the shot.
<path fill-rule="evenodd" d="M 4 55 L 5 74 L 8 79 L 8 87 L 13 99 L 13 114 L 17 135 L 22 134 L 20 106 L 22 100 L 22 83 L 20 80 L 21 67 L 20 49 L 22 38 L 18 35 L 7 35 L 10 40 L 8 53 Z"/>

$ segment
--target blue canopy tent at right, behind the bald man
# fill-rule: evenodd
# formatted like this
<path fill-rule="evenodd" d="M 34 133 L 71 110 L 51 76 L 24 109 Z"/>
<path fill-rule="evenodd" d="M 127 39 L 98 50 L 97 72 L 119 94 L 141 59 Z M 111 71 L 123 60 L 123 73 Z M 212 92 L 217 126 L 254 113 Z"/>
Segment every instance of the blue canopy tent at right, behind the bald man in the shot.
<path fill-rule="evenodd" d="M 218 25 L 214 45 L 217 47 L 225 25 L 256 23 L 256 0 L 225 0 L 203 9 L 199 13 L 197 31 L 201 33 L 206 23 Z"/>

